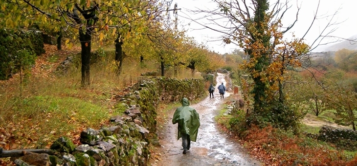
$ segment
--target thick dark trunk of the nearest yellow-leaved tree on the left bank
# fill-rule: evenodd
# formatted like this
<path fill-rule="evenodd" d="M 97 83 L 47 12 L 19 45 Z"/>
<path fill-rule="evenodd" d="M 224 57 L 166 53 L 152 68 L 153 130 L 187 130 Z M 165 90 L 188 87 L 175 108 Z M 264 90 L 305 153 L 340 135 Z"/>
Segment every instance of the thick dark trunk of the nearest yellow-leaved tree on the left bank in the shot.
<path fill-rule="evenodd" d="M 81 58 L 82 58 L 82 86 L 90 85 L 90 46 L 91 46 L 91 32 L 87 29 L 87 32 L 79 30 L 79 41 L 81 41 Z"/>

